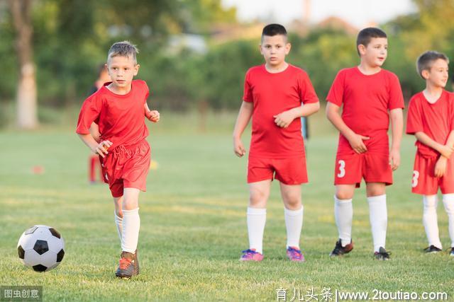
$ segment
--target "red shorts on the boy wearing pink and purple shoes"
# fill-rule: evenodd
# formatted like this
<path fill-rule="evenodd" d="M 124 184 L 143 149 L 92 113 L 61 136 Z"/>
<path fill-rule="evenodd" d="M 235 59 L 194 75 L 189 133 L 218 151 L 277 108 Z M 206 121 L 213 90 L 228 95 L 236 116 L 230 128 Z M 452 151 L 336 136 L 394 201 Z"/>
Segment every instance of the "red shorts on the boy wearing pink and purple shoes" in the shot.
<path fill-rule="evenodd" d="M 308 182 L 306 157 L 257 158 L 249 156 L 248 183 L 276 178 L 284 185 L 301 185 Z"/>

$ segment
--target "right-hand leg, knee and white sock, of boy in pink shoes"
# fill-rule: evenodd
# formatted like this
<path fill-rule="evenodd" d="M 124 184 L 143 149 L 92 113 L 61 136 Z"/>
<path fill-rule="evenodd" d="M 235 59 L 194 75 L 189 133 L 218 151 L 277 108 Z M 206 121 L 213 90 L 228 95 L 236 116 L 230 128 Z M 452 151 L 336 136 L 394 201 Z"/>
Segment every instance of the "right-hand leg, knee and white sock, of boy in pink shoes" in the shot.
<path fill-rule="evenodd" d="M 280 182 L 284 202 L 285 226 L 287 228 L 287 248 L 299 250 L 299 238 L 303 226 L 303 206 L 301 204 L 301 185 L 285 185 Z"/>

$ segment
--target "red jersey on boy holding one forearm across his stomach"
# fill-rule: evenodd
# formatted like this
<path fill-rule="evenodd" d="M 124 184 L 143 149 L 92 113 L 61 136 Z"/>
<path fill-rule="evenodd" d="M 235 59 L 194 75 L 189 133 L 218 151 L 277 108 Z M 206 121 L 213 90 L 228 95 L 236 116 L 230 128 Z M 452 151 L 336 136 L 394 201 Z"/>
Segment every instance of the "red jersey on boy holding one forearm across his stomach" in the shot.
<path fill-rule="evenodd" d="M 289 64 L 284 71 L 272 74 L 265 64 L 254 66 L 245 76 L 243 100 L 254 106 L 250 156 L 291 158 L 304 155 L 301 120 L 294 119 L 289 127 L 281 128 L 273 117 L 297 108 L 301 103 L 319 102 L 304 70 Z"/>

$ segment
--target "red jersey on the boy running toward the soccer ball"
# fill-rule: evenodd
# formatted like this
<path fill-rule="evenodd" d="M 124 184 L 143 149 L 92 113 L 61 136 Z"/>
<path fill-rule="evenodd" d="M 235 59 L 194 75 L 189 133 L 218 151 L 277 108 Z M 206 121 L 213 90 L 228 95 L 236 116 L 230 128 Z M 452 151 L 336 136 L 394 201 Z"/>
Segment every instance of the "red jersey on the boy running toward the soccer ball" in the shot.
<path fill-rule="evenodd" d="M 131 146 L 148 137 L 145 125 L 143 104 L 148 98 L 148 86 L 145 81 L 133 80 L 131 91 L 119 95 L 106 86 L 92 94 L 82 104 L 76 132 L 89 134 L 92 122 L 99 125 L 101 140 L 112 142 L 111 149 L 116 146 Z"/>

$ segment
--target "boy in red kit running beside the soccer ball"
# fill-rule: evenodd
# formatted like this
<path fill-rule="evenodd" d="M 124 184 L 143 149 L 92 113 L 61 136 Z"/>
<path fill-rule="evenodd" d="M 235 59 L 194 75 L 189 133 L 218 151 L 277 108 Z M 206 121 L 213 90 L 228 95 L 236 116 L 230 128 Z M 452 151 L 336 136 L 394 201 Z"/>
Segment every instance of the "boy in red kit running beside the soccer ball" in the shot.
<path fill-rule="evenodd" d="M 112 81 L 84 101 L 76 129 L 89 149 L 99 154 L 104 181 L 109 183 L 114 197 L 122 250 L 116 277 L 122 278 L 131 278 L 139 272 L 138 195 L 146 189 L 150 166 L 150 145 L 145 139 L 148 128 L 143 120 L 149 90 L 145 81 L 133 80 L 140 67 L 137 53 L 135 45 L 127 41 L 112 45 L 106 64 Z M 152 122 L 160 119 L 155 110 L 145 115 Z M 89 131 L 93 122 L 99 126 L 99 144 Z"/>

